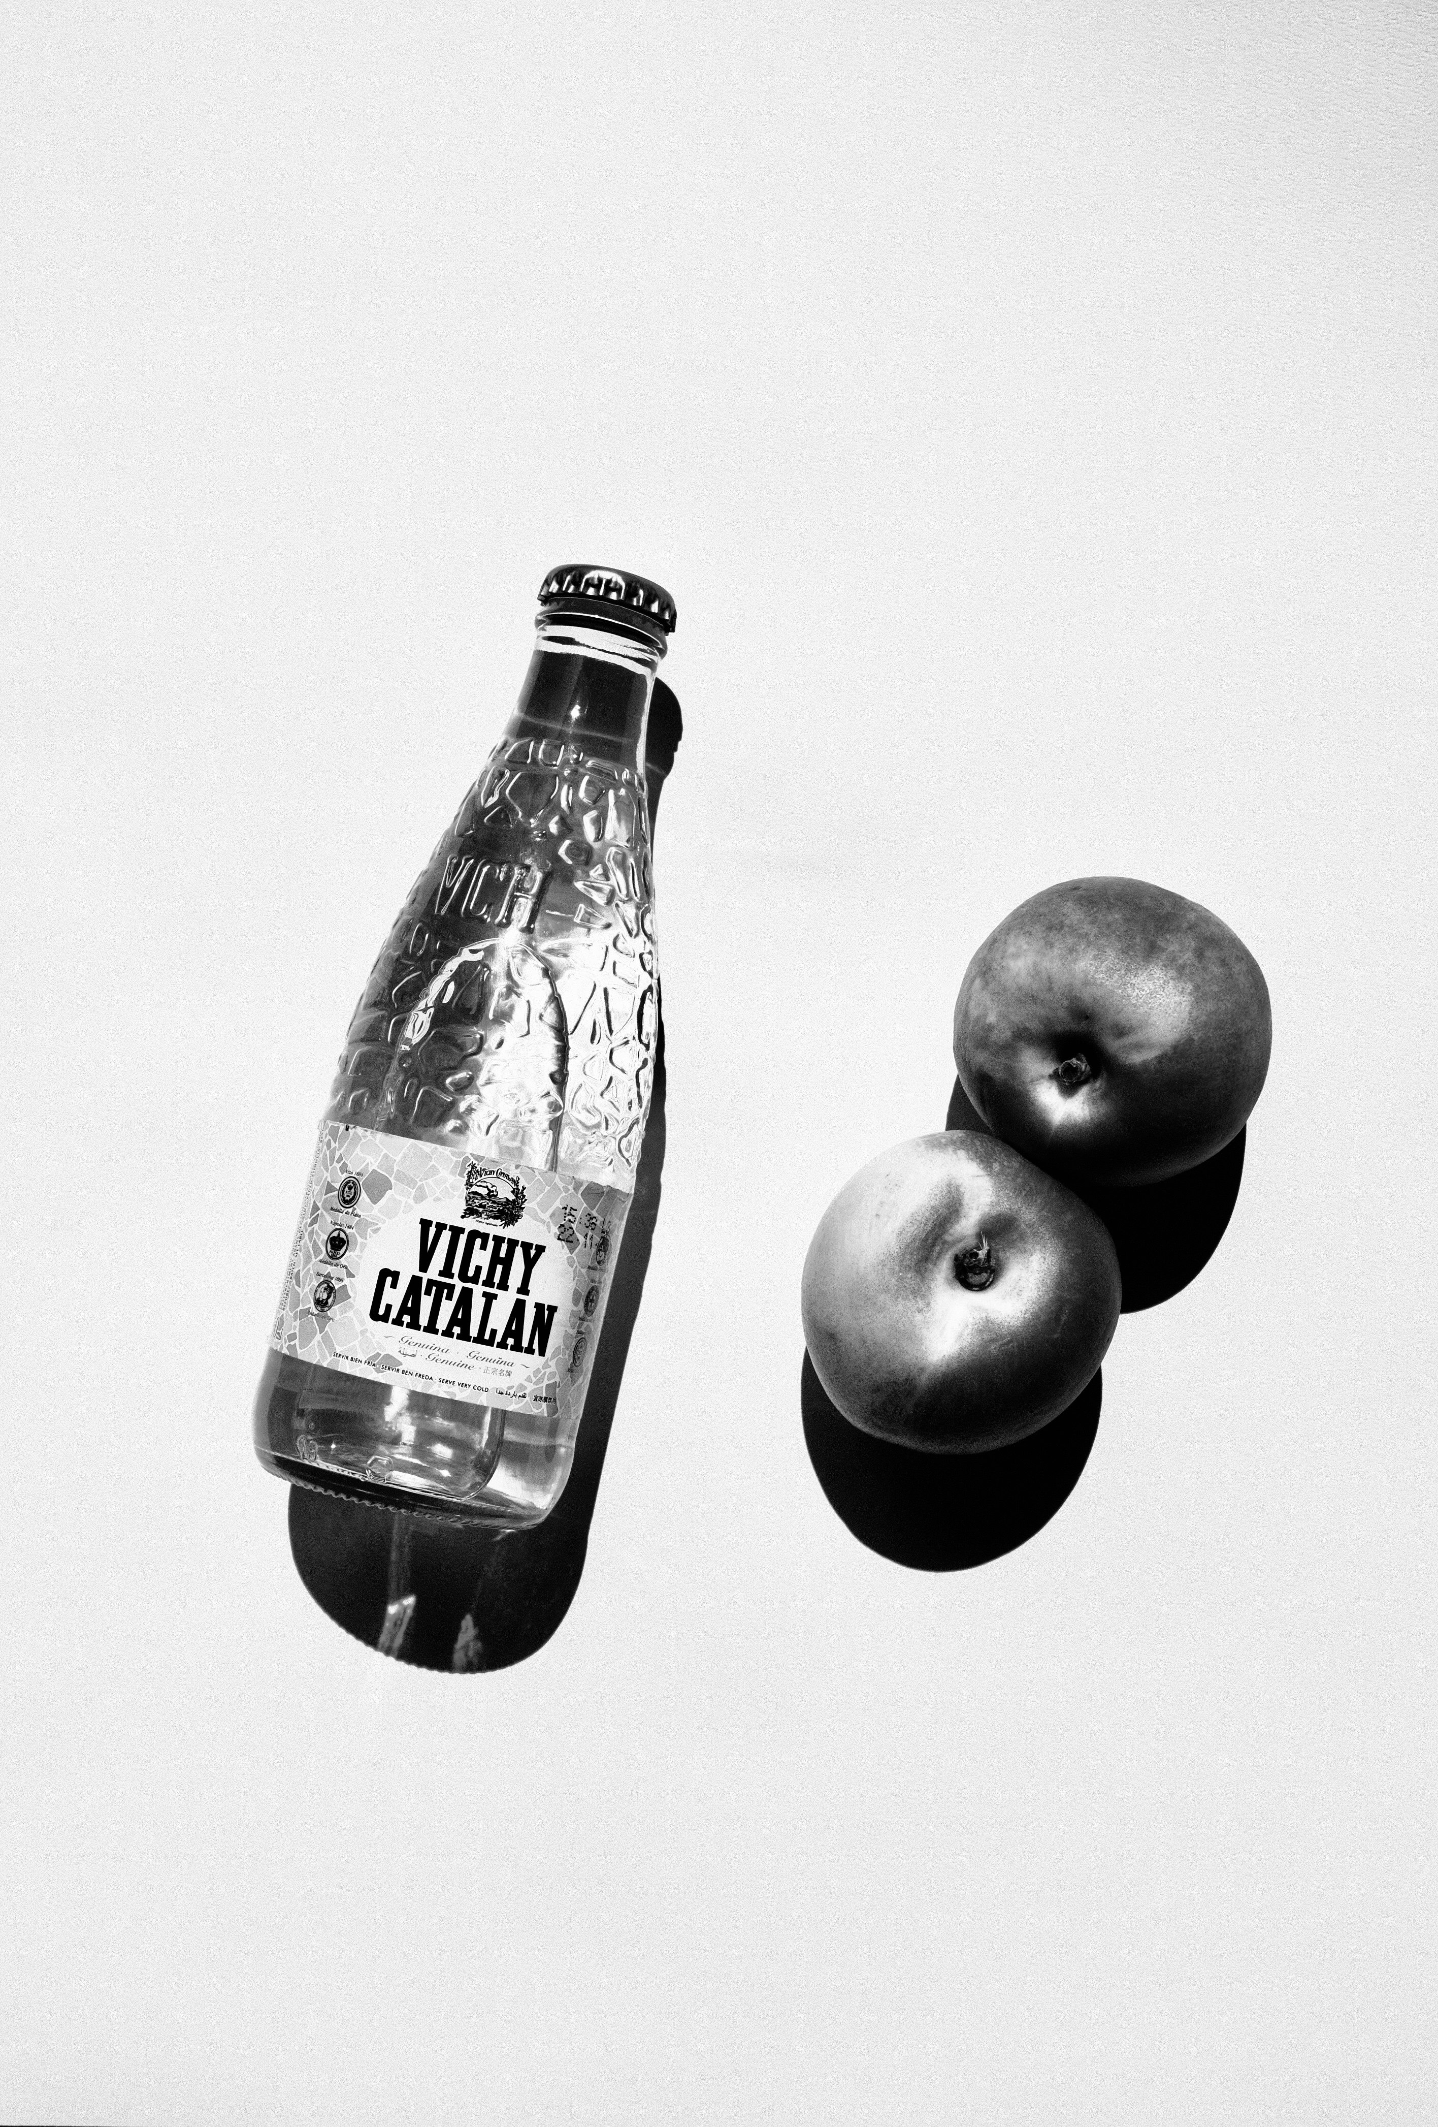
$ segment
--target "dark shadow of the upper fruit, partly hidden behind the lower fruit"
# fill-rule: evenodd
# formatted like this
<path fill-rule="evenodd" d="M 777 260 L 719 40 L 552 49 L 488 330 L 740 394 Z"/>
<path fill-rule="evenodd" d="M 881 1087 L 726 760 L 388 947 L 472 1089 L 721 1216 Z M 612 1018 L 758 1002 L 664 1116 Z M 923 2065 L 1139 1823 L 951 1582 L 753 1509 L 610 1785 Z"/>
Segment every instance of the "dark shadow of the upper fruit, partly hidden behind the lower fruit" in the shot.
<path fill-rule="evenodd" d="M 944 1129 L 979 1129 L 993 1136 L 959 1078 L 953 1081 Z M 1123 1312 L 1138 1314 L 1172 1300 L 1191 1285 L 1223 1240 L 1238 1202 L 1247 1127 L 1187 1174 L 1142 1189 L 1078 1189 L 1098 1212 L 1119 1251 Z"/>

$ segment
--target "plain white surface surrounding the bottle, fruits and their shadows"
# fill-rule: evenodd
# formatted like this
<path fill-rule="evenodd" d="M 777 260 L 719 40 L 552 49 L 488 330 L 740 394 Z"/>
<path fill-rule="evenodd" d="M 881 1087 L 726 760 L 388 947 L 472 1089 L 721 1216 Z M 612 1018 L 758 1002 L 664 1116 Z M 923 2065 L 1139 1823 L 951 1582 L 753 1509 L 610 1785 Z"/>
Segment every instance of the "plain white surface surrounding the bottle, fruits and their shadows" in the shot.
<path fill-rule="evenodd" d="M 6 2121 L 1429 2121 L 1429 9 L 11 6 Z M 668 1163 L 557 1638 L 249 1402 L 559 559 L 679 600 Z M 1213 906 L 1238 1210 L 1023 1551 L 859 1548 L 842 1178 L 1023 895 Z"/>

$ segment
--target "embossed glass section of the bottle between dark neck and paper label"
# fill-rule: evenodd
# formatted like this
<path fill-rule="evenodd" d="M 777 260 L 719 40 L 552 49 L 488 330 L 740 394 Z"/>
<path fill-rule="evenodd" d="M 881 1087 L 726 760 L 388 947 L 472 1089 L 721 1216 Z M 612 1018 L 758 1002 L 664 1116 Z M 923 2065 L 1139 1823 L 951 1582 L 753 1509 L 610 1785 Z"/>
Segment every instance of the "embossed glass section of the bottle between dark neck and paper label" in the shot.
<path fill-rule="evenodd" d="M 513 1138 L 534 1163 L 630 1187 L 655 1029 L 642 776 L 508 736 L 374 964 L 330 1119 Z"/>

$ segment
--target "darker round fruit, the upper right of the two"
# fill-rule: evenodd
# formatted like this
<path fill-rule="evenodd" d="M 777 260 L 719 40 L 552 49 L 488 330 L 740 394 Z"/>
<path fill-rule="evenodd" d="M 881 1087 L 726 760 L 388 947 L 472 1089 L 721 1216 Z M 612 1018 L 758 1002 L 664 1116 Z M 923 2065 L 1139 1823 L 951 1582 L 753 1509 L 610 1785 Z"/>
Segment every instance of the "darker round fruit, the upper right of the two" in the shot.
<path fill-rule="evenodd" d="M 1168 1180 L 1264 1089 L 1264 970 L 1208 908 L 1142 878 L 1068 878 L 968 964 L 953 1061 L 1008 1144 L 1074 1187 Z"/>

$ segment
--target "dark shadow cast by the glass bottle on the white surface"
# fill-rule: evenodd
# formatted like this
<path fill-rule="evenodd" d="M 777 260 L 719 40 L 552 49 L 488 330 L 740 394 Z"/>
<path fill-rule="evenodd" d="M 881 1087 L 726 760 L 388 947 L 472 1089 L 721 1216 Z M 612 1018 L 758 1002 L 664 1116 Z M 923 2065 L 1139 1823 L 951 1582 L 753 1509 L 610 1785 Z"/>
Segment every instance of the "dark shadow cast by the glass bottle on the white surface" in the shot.
<path fill-rule="evenodd" d="M 655 681 L 649 710 L 649 819 L 683 736 L 679 700 Z M 664 1176 L 664 1008 L 634 1200 L 593 1357 L 570 1478 L 532 1529 L 466 1529 L 425 1514 L 289 1489 L 289 1553 L 319 1608 L 383 1655 L 474 1674 L 525 1661 L 564 1623 L 589 1548 L 615 1404 L 659 1217 Z"/>

